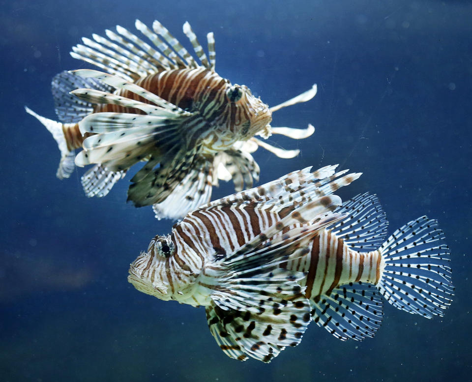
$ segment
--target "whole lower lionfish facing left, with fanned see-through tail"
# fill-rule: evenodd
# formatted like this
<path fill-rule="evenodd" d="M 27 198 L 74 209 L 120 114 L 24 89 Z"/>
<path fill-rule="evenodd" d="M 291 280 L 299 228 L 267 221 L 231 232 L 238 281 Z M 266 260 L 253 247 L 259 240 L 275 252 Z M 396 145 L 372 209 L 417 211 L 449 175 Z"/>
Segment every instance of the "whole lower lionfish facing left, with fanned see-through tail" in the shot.
<path fill-rule="evenodd" d="M 382 296 L 442 316 L 453 286 L 437 221 L 413 220 L 385 240 L 375 195 L 341 204 L 332 192 L 360 174 L 304 169 L 201 206 L 155 236 L 128 281 L 162 300 L 205 306 L 232 358 L 269 362 L 314 321 L 341 340 L 373 337 Z"/>

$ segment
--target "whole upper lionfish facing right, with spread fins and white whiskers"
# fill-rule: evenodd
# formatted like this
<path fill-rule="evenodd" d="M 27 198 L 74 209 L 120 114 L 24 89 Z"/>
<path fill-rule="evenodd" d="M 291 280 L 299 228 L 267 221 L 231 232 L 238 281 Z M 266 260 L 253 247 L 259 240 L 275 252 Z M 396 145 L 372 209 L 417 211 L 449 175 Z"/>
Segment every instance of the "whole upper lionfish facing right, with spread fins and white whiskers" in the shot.
<path fill-rule="evenodd" d="M 61 152 L 57 176 L 95 164 L 82 177 L 88 196 L 105 196 L 126 171 L 146 161 L 131 179 L 128 200 L 153 205 L 156 217 L 181 218 L 210 200 L 218 179 L 233 179 L 236 191 L 253 186 L 259 166 L 251 153 L 259 146 L 282 158 L 299 150 L 272 147 L 255 135 L 309 137 L 314 128 L 271 127 L 272 113 L 313 98 L 314 85 L 280 105 L 268 107 L 244 85 L 215 71 L 215 41 L 207 34 L 208 57 L 188 22 L 183 32 L 197 59 L 158 21 L 136 28 L 148 42 L 117 26 L 108 37 L 93 34 L 72 48 L 73 58 L 104 72 L 61 72 L 52 81 L 61 122 L 38 116 Z M 77 156 L 75 149 L 82 148 Z"/>

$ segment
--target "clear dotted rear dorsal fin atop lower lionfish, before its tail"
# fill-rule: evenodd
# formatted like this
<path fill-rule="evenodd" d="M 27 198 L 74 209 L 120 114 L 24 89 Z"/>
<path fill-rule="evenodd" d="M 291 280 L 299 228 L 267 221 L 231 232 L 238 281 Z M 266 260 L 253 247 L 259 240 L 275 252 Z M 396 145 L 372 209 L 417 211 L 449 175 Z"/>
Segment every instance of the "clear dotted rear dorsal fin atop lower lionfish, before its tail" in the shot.
<path fill-rule="evenodd" d="M 368 192 L 344 202 L 336 212 L 346 218 L 328 229 L 357 251 L 378 249 L 387 234 L 388 222 L 379 199 Z"/>

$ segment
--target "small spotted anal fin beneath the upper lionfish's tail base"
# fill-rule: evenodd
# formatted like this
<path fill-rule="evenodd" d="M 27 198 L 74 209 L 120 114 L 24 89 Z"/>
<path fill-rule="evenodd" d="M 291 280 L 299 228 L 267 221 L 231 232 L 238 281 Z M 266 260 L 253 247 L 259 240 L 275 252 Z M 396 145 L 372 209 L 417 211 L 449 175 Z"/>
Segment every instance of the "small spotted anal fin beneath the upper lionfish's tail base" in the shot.
<path fill-rule="evenodd" d="M 99 198 L 107 195 L 114 184 L 125 176 L 125 171 L 110 171 L 104 165 L 93 166 L 81 178 L 82 187 L 85 194 L 91 198 Z"/>

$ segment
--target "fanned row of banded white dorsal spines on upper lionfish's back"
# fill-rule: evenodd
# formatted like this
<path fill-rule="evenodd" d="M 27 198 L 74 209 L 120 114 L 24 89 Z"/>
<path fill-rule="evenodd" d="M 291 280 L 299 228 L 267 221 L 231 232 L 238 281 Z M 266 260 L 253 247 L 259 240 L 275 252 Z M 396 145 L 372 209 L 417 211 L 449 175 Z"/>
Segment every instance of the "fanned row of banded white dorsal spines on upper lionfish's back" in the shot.
<path fill-rule="evenodd" d="M 70 55 L 131 82 L 162 70 L 178 67 L 203 66 L 214 70 L 212 33 L 207 36 L 208 60 L 190 24 L 186 22 L 183 25 L 183 31 L 194 48 L 200 61 L 198 62 L 158 21 L 152 24 L 153 30 L 139 20 L 136 20 L 135 27 L 144 35 L 143 37 L 148 38 L 150 44 L 129 30 L 117 26 L 116 32 L 108 29 L 105 31 L 108 38 L 97 34 L 92 34 L 92 39 L 82 38 L 83 44 L 74 46 Z"/>

